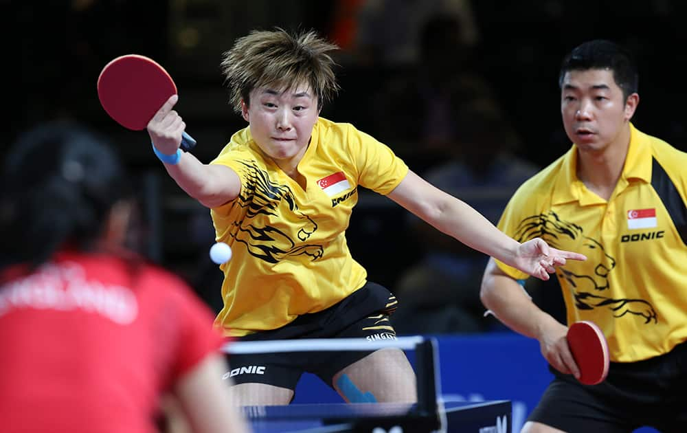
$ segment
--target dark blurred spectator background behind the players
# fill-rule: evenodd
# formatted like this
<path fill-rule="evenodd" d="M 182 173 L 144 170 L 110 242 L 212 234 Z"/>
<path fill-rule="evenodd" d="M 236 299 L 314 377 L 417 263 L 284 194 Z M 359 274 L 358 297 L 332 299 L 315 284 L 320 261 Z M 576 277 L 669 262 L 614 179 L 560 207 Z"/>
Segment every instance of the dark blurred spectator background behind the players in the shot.
<path fill-rule="evenodd" d="M 98 102 L 98 74 L 116 56 L 144 54 L 168 69 L 179 88 L 177 110 L 198 141 L 194 154 L 209 162 L 245 126 L 227 103 L 221 54 L 252 29 L 317 30 L 341 47 L 337 74 L 342 89 L 322 115 L 371 133 L 416 172 L 447 189 L 455 187 L 452 193 L 481 212 L 493 212 L 488 215 L 493 220 L 515 183 L 569 148 L 559 113 L 559 63 L 587 39 L 611 38 L 633 50 L 641 96 L 635 125 L 687 150 L 684 1 L 0 4 L 6 32 L 3 69 L 10 75 L 4 104 L 9 133 L 3 146 L 28 127 L 56 118 L 76 119 L 109 135 L 141 185 L 139 247 L 188 278 L 215 306 L 221 274 L 207 256 L 214 241 L 207 210 L 167 177 L 145 131 L 115 124 Z M 511 163 L 509 169 L 517 162 L 521 170 L 504 176 L 503 168 L 494 166 L 499 158 Z M 491 201 L 482 207 L 485 197 Z M 447 239 L 436 233 L 431 236 L 438 238 L 430 241 L 425 230 L 391 201 L 362 191 L 348 240 L 370 279 L 398 293 L 407 291 L 408 299 L 414 288 L 425 285 L 469 294 L 453 300 L 467 304 L 464 322 L 455 322 L 455 311 L 444 311 L 433 316 L 436 326 L 429 331 L 488 330 L 476 303 L 478 276 L 466 278 L 481 269 L 482 259 L 475 262 L 459 251 L 434 254 L 455 245 L 447 247 Z M 433 266 L 446 271 L 442 282 L 428 280 L 427 274 L 436 276 Z M 438 291 L 438 302 L 445 304 L 445 296 Z M 542 296 L 541 302 L 554 308 L 559 300 Z"/>

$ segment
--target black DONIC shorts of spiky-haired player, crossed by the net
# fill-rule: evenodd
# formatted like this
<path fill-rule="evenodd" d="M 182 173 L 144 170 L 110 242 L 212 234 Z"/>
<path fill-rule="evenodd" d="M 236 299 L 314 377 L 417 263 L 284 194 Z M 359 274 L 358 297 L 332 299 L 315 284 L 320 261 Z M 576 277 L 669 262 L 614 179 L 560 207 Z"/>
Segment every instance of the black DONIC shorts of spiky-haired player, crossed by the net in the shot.
<path fill-rule="evenodd" d="M 367 282 L 328 309 L 300 315 L 281 328 L 250 334 L 236 341 L 352 337 L 366 337 L 371 341 L 395 339 L 396 331 L 389 322 L 389 315 L 396 309 L 396 304 L 390 291 L 374 282 Z M 372 352 L 374 350 L 229 355 L 227 361 L 231 370 L 223 378 L 231 377 L 234 384 L 269 384 L 295 390 L 301 375 L 308 372 L 332 386 L 336 373 Z"/>

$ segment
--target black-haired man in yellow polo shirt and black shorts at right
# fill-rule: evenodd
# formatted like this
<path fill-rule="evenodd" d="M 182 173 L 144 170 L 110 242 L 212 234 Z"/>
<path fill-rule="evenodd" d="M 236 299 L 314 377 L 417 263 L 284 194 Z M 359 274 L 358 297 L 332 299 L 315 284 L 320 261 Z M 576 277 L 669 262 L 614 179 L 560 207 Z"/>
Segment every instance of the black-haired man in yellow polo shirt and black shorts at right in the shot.
<path fill-rule="evenodd" d="M 611 366 L 601 384 L 580 384 L 567 327 L 518 287 L 523 272 L 491 260 L 484 304 L 537 338 L 555 375 L 523 431 L 687 431 L 687 154 L 631 123 L 638 72 L 616 43 L 574 48 L 559 84 L 572 148 L 519 188 L 499 227 L 587 255 L 556 276 L 568 324 L 598 324 Z"/>

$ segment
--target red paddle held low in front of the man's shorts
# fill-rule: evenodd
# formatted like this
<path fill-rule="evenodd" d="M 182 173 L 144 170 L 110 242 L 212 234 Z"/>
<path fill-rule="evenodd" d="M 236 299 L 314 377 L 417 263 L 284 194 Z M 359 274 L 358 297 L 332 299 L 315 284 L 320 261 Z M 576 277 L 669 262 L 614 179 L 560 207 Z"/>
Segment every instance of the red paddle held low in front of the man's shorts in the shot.
<path fill-rule="evenodd" d="M 567 330 L 567 344 L 580 368 L 585 385 L 600 384 L 606 379 L 609 367 L 608 344 L 601 329 L 587 320 L 575 322 Z"/>

